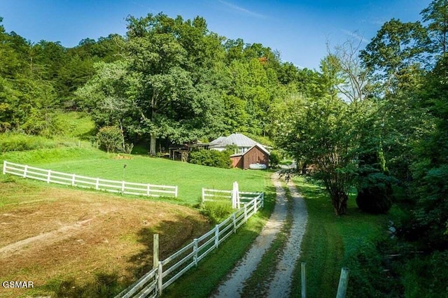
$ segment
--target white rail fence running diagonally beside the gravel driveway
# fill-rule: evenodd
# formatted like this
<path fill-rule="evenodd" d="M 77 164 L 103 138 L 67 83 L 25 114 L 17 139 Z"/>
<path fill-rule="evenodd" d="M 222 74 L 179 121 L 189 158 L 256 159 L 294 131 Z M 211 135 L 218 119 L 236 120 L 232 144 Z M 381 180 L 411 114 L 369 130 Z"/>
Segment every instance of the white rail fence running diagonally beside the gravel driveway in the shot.
<path fill-rule="evenodd" d="M 214 229 L 200 238 L 194 239 L 192 243 L 184 246 L 167 259 L 160 261 L 157 268 L 152 269 L 129 288 L 120 292 L 116 298 L 160 297 L 163 290 L 174 283 L 177 278 L 190 268 L 197 266 L 197 262 L 218 248 L 230 235 L 236 233 L 248 218 L 262 208 L 263 199 L 264 194 L 259 192 L 257 197 L 253 197 L 251 201 L 216 225 Z"/>

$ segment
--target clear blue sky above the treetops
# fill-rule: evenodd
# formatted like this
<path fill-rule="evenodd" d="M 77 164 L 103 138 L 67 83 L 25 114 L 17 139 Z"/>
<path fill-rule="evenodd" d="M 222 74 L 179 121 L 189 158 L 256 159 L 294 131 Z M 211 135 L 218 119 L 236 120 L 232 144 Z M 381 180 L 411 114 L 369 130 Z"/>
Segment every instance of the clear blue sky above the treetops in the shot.
<path fill-rule="evenodd" d="M 32 43 L 59 41 L 71 48 L 84 38 L 126 34 L 125 17 L 148 13 L 197 15 L 208 28 L 230 39 L 262 43 L 277 50 L 283 62 L 319 69 L 330 48 L 348 40 L 361 48 L 391 18 L 421 20 L 431 0 L 0 0 L 7 32 Z"/>

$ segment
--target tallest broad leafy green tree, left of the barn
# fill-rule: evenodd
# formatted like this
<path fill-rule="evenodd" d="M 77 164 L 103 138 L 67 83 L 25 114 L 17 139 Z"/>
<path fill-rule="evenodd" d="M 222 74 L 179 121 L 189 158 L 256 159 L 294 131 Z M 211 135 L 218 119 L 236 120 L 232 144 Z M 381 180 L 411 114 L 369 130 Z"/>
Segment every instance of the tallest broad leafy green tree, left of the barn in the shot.
<path fill-rule="evenodd" d="M 78 92 L 99 126 L 113 122 L 149 136 L 151 155 L 160 138 L 184 143 L 216 134 L 222 107 L 214 88 L 216 34 L 200 18 L 149 14 L 127 21 L 124 59 L 102 65 Z"/>

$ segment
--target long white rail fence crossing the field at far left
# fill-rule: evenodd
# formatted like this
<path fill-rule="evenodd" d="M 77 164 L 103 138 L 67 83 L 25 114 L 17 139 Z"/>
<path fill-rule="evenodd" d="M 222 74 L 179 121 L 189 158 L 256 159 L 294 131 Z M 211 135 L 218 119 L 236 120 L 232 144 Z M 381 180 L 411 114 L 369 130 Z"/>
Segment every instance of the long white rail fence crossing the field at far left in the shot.
<path fill-rule="evenodd" d="M 3 174 L 11 174 L 45 181 L 46 183 L 57 183 L 76 187 L 94 188 L 106 192 L 118 192 L 121 194 L 135 194 L 148 197 L 177 197 L 177 186 L 152 185 L 144 183 L 131 183 L 126 181 L 105 180 L 90 178 L 76 174 L 61 173 L 52 170 L 39 169 L 24 164 L 14 164 L 3 161 Z"/>

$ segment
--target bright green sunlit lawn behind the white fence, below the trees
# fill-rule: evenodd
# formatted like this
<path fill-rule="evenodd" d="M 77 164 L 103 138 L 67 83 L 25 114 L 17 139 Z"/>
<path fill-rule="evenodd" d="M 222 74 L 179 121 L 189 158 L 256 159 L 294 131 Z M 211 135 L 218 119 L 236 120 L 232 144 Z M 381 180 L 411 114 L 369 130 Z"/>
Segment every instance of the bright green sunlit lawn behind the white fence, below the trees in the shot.
<path fill-rule="evenodd" d="M 177 185 L 179 199 L 173 202 L 188 205 L 200 202 L 202 187 L 232 190 L 232 183 L 237 181 L 241 191 L 262 191 L 268 185 L 265 177 L 269 175 L 266 171 L 218 169 L 163 158 L 107 154 L 92 148 L 6 152 L 0 155 L 0 160 L 91 178 Z"/>

